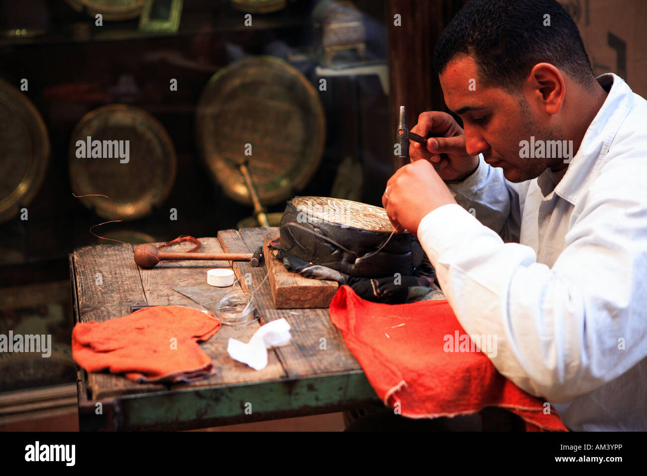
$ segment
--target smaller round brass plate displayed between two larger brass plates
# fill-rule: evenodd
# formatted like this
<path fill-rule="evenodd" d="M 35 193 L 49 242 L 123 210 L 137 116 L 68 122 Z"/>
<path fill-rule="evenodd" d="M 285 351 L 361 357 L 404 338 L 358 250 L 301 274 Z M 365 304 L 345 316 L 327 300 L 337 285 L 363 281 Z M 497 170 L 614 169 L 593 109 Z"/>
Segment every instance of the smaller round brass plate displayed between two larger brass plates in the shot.
<path fill-rule="evenodd" d="M 104 194 L 124 220 L 147 215 L 171 192 L 177 160 L 164 126 L 146 111 L 103 106 L 80 120 L 70 140 L 70 181 L 77 195 Z M 104 197 L 82 199 L 96 214 L 115 220 Z"/>

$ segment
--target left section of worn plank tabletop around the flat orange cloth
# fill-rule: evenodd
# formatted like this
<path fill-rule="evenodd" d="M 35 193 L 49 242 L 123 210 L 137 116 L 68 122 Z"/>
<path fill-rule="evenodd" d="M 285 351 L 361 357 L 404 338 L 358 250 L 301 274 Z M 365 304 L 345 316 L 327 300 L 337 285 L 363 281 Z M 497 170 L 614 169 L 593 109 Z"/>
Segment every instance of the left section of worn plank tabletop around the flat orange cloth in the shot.
<path fill-rule="evenodd" d="M 222 253 L 215 238 L 199 238 L 204 253 Z M 157 244 L 157 245 L 161 245 Z M 190 245 L 178 245 L 182 251 Z M 183 304 L 203 310 L 203 306 L 173 290 L 178 286 L 206 282 L 206 271 L 214 267 L 230 267 L 226 261 L 164 261 L 152 269 L 141 269 L 133 261 L 130 245 L 100 245 L 74 251 L 74 275 L 78 296 L 79 321 L 102 322 L 131 313 L 133 305 Z M 100 273 L 100 277 L 97 276 Z M 97 284 L 100 282 L 101 284 Z M 276 352 L 270 351 L 269 363 L 263 370 L 254 370 L 234 361 L 226 352 L 229 337 L 249 341 L 259 328 L 257 322 L 247 326 L 222 326 L 201 348 L 212 358 L 217 374 L 199 381 L 174 385 L 174 389 L 201 387 L 218 383 L 242 383 L 286 376 Z M 136 383 L 125 377 L 91 373 L 87 377 L 90 398 L 100 400 L 129 393 L 164 391 L 167 385 Z"/>

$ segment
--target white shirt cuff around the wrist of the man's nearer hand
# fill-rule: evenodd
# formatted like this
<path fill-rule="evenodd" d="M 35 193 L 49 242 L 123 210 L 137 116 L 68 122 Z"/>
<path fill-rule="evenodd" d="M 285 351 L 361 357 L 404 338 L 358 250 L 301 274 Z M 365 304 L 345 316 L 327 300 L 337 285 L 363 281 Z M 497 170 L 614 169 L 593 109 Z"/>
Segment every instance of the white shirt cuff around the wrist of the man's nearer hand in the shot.
<path fill-rule="evenodd" d="M 418 225 L 417 235 L 422 249 L 436 267 L 443 251 L 469 239 L 482 228 L 481 222 L 470 212 L 456 203 L 450 203 L 426 214 Z"/>

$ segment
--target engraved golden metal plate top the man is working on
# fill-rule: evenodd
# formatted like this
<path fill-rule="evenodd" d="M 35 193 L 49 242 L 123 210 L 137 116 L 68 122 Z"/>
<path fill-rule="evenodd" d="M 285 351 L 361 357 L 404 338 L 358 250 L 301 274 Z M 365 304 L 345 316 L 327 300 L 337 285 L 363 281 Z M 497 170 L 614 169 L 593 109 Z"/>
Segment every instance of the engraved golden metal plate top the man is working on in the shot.
<path fill-rule="evenodd" d="M 301 218 L 306 220 L 322 220 L 360 230 L 393 231 L 386 210 L 366 203 L 340 198 L 297 197 L 292 199 L 292 205 L 303 212 Z"/>

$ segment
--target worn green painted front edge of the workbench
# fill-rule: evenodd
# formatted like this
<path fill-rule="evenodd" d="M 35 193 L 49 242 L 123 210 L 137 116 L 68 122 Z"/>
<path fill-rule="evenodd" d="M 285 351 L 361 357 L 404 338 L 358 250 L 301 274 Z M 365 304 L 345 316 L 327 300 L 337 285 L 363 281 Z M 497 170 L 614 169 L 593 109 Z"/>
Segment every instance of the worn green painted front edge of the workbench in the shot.
<path fill-rule="evenodd" d="M 382 405 L 362 370 L 129 394 L 80 407 L 84 430 L 164 431 L 276 420 Z"/>

